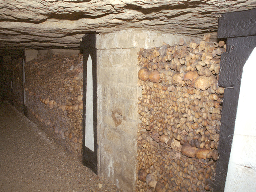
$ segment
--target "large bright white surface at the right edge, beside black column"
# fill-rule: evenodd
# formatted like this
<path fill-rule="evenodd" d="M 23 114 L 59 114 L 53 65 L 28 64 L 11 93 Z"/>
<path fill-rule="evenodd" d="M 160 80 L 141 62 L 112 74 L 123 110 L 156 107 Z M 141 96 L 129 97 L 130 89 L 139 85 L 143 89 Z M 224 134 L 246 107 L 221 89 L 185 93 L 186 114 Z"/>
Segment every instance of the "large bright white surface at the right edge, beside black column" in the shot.
<path fill-rule="evenodd" d="M 256 192 L 256 48 L 243 68 L 225 192 Z"/>

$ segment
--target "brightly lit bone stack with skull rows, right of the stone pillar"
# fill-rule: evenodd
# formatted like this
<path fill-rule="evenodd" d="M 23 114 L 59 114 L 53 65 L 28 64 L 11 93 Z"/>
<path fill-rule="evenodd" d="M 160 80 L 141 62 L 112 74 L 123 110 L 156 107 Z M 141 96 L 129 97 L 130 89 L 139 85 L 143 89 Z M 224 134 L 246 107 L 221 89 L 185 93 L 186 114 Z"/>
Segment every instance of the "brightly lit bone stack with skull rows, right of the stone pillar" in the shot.
<path fill-rule="evenodd" d="M 225 43 L 141 49 L 136 191 L 212 191 L 224 88 L 218 86 Z"/>

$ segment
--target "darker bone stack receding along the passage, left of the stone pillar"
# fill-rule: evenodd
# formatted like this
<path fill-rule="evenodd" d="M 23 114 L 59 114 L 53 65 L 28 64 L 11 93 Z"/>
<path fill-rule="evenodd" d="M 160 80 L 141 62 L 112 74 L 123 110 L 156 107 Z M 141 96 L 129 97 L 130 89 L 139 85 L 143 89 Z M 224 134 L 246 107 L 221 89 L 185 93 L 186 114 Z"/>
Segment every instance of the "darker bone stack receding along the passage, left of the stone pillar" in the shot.
<path fill-rule="evenodd" d="M 83 57 L 46 55 L 26 63 L 26 106 L 69 151 L 81 156 Z"/>

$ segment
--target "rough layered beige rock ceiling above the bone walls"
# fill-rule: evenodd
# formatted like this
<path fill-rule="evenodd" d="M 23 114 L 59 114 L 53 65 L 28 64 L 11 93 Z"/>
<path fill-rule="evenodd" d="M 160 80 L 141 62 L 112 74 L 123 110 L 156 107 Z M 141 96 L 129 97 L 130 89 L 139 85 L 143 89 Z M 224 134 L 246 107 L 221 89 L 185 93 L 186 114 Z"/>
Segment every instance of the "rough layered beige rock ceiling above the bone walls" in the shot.
<path fill-rule="evenodd" d="M 87 32 L 127 28 L 216 38 L 221 13 L 255 7 L 256 0 L 0 0 L 0 48 L 78 48 Z"/>

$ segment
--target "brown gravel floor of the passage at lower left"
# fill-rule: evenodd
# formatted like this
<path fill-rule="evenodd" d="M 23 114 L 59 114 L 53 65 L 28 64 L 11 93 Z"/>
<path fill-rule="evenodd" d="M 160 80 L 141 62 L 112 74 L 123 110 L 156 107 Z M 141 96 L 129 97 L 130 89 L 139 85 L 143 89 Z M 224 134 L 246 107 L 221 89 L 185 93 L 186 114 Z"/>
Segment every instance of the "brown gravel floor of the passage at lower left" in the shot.
<path fill-rule="evenodd" d="M 15 107 L 0 101 L 0 192 L 15 191 L 121 192 L 121 189 L 95 175 L 49 140 Z"/>

